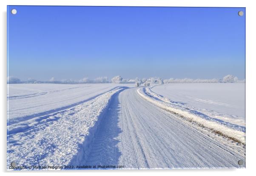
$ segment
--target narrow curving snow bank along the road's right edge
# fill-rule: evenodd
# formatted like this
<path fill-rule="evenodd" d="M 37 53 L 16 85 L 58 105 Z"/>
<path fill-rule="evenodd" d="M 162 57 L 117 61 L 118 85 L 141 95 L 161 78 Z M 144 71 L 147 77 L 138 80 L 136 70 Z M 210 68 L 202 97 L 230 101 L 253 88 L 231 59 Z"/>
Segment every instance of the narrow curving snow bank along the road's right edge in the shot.
<path fill-rule="evenodd" d="M 239 142 L 245 143 L 245 128 L 232 123 L 211 118 L 200 112 L 178 106 L 172 103 L 168 98 L 158 95 L 151 91 L 149 87 L 142 87 L 137 89 L 138 94 L 145 100 L 153 103 L 154 105 L 173 112 L 177 115 L 187 118 L 188 120 L 194 121 L 201 126 L 207 127 L 219 134 L 230 137 Z"/>

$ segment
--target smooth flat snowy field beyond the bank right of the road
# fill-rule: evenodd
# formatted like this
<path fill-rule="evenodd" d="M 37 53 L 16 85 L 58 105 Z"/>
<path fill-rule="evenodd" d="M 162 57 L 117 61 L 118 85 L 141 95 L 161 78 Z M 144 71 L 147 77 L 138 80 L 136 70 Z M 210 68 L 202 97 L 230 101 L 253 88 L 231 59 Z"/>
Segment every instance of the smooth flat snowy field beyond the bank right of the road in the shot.
<path fill-rule="evenodd" d="M 245 83 L 164 84 L 151 91 L 176 105 L 245 127 Z"/>

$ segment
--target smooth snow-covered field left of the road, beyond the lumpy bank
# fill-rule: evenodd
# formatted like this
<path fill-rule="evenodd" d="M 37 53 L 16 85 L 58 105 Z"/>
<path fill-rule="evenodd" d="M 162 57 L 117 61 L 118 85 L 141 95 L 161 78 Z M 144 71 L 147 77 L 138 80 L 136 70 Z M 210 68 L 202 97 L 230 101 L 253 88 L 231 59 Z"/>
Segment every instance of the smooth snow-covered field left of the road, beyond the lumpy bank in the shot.
<path fill-rule="evenodd" d="M 8 84 L 8 123 L 57 112 L 108 92 L 120 84 Z M 121 85 L 123 86 L 123 85 Z M 133 84 L 125 84 L 134 87 Z"/>

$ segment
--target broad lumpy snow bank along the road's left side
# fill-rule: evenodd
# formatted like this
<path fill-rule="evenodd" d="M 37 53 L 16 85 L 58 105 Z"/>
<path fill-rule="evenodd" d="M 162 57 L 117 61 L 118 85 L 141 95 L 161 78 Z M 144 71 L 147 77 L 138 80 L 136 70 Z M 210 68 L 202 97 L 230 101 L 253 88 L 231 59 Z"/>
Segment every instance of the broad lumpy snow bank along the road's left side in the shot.
<path fill-rule="evenodd" d="M 122 87 L 97 98 L 50 115 L 35 117 L 8 126 L 7 165 L 17 166 L 68 165 L 85 140 L 97 128 L 98 117 L 108 107 L 111 97 Z M 37 169 L 37 168 L 31 168 Z M 51 169 L 51 168 L 46 168 Z M 62 168 L 59 168 L 62 169 Z"/>

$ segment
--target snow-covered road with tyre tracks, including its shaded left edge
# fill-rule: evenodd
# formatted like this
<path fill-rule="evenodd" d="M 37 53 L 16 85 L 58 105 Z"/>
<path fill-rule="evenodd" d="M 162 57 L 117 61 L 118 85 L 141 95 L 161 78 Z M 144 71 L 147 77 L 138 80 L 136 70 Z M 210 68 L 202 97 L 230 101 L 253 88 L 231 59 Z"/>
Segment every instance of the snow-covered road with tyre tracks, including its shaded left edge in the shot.
<path fill-rule="evenodd" d="M 70 164 L 125 168 L 240 167 L 238 160 L 245 156 L 230 148 L 235 143 L 227 145 L 209 137 L 193 124 L 145 101 L 136 90 L 124 89 L 112 97 L 88 154 Z"/>

